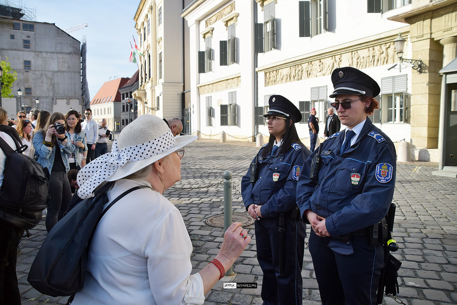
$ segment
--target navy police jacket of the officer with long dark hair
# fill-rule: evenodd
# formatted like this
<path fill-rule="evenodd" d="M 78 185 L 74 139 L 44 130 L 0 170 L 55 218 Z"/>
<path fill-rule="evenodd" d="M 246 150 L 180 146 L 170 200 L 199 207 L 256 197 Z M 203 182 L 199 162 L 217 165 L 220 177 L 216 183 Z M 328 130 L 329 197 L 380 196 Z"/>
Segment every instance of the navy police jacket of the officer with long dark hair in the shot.
<path fill-rule="evenodd" d="M 302 144 L 303 145 L 303 144 Z M 297 181 L 303 167 L 305 154 L 303 147 L 293 143 L 286 153 L 260 157 L 266 145 L 260 148 L 258 158 L 258 179 L 250 182 L 251 169 L 241 179 L 241 194 L 246 210 L 252 204 L 262 205 L 260 214 L 263 218 L 276 217 L 294 209 L 296 204 Z M 255 160 L 255 158 L 254 158 Z M 254 162 L 254 161 L 253 161 Z"/>

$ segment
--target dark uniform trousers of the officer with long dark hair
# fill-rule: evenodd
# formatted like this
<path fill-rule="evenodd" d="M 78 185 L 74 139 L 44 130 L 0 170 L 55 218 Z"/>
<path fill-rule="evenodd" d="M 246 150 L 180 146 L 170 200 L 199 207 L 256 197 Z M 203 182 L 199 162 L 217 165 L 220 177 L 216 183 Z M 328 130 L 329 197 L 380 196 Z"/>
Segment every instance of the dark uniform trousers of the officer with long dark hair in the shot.
<path fill-rule="evenodd" d="M 257 260 L 263 271 L 264 305 L 302 304 L 302 266 L 306 224 L 284 215 L 284 269 L 279 273 L 279 216 L 255 221 Z"/>

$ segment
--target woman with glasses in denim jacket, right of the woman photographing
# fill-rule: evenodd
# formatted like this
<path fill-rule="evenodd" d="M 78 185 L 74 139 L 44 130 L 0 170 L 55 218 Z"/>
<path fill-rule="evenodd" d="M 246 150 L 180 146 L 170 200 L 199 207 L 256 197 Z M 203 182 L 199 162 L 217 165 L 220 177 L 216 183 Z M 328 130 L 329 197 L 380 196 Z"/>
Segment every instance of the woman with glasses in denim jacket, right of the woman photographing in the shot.
<path fill-rule="evenodd" d="M 67 131 L 70 135 L 70 141 L 76 147 L 74 152 L 68 158 L 70 169 L 80 170 L 85 166 L 85 156 L 87 156 L 87 145 L 85 141 L 85 132 L 82 131 L 80 115 L 76 110 L 70 110 L 67 115 Z"/>

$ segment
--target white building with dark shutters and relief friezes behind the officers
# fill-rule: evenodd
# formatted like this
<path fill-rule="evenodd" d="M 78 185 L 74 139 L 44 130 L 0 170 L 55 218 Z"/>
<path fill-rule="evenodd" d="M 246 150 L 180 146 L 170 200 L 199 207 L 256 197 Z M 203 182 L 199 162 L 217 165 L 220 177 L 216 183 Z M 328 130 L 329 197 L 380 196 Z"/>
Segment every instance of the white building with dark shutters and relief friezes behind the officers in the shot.
<path fill-rule="evenodd" d="M 302 111 L 296 126 L 308 144 L 310 109 L 317 110 L 323 137 L 330 74 L 352 66 L 382 88 L 372 121 L 394 142 L 409 142 L 413 158 L 425 152 L 422 159 L 438 161 L 438 71 L 456 57 L 457 41 L 455 22 L 446 27 L 442 21 L 457 1 L 409 2 L 194 1 L 181 13 L 190 32 L 191 131 L 202 137 L 225 131 L 248 141 L 257 132 L 268 135 L 262 115 L 268 97 L 279 94 Z M 420 16 L 425 19 L 419 22 Z M 416 21 L 420 24 L 409 26 Z M 406 39 L 403 58 L 422 59 L 425 73 L 409 63 L 400 71 L 393 43 L 399 33 Z M 446 54 L 442 45 L 451 42 L 453 54 Z"/>

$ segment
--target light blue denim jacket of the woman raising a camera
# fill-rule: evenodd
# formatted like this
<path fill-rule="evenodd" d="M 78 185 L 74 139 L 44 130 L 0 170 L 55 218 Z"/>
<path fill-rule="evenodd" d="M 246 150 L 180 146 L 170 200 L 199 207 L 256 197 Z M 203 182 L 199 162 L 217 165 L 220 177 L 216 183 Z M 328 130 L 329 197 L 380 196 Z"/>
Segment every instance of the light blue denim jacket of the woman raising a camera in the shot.
<path fill-rule="evenodd" d="M 65 136 L 68 138 L 70 135 L 68 132 L 65 131 Z M 67 138 L 67 144 L 64 146 L 62 142 L 58 142 L 58 146 L 60 149 L 60 154 L 62 155 L 62 161 L 64 161 L 65 165 L 65 170 L 68 172 L 70 170 L 70 165 L 68 163 L 68 157 L 73 153 L 74 151 L 74 145 L 71 144 L 71 141 Z M 53 168 L 54 164 L 54 157 L 56 154 L 56 146 L 54 145 L 52 147 L 52 150 L 49 150 L 48 147 L 46 147 L 43 144 L 43 131 L 37 131 L 33 135 L 33 147 L 35 147 L 35 151 L 39 155 L 37 162 L 40 163 L 43 167 L 47 167 L 49 170 L 49 174 L 51 174 L 51 169 Z"/>

